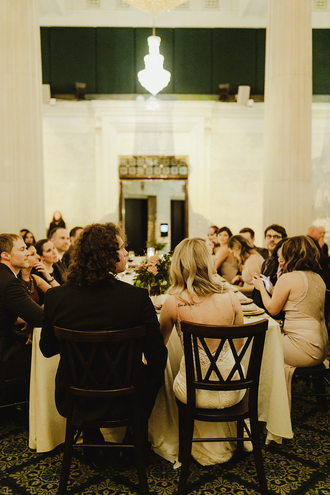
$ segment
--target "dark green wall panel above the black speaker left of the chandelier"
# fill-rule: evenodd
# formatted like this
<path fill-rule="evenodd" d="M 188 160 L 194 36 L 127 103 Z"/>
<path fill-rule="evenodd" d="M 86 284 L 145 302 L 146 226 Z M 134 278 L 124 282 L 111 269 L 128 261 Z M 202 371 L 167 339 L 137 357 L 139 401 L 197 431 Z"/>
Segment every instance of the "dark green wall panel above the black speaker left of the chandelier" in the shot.
<path fill-rule="evenodd" d="M 50 74 L 52 93 L 75 93 L 75 83 L 87 83 L 97 93 L 95 28 L 51 27 Z"/>

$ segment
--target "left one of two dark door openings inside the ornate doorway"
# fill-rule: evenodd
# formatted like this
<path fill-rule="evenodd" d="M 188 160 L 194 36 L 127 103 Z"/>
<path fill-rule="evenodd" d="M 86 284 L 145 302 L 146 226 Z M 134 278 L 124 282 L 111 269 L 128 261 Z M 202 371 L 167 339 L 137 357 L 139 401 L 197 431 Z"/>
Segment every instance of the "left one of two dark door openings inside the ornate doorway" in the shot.
<path fill-rule="evenodd" d="M 128 251 L 144 254 L 148 235 L 148 200 L 125 198 L 125 233 Z"/>

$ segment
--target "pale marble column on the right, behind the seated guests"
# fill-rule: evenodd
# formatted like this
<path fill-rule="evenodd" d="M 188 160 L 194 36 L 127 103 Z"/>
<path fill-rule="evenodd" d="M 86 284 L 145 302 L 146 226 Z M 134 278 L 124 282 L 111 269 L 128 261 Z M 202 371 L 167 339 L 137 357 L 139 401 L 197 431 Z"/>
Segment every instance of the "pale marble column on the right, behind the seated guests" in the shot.
<path fill-rule="evenodd" d="M 264 226 L 302 235 L 312 216 L 311 1 L 269 0 L 266 33 Z"/>

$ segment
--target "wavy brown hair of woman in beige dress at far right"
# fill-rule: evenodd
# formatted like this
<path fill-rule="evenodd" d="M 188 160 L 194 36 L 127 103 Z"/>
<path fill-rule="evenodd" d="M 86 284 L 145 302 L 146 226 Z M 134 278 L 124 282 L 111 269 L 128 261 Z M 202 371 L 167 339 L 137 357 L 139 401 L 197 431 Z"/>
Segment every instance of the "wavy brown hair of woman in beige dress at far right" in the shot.
<path fill-rule="evenodd" d="M 282 245 L 283 273 L 296 270 L 318 272 L 320 252 L 308 236 L 290 237 Z"/>

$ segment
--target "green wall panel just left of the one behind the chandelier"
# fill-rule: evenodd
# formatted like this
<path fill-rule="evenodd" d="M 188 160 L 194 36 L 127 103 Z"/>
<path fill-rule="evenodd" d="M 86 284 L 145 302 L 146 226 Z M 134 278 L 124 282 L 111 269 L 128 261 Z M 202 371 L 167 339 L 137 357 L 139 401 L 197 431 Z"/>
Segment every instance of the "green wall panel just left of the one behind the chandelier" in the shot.
<path fill-rule="evenodd" d="M 135 29 L 96 28 L 98 93 L 135 93 Z"/>

